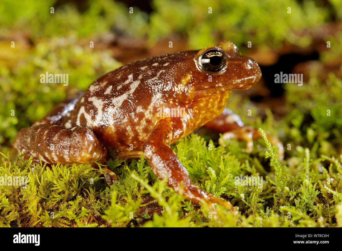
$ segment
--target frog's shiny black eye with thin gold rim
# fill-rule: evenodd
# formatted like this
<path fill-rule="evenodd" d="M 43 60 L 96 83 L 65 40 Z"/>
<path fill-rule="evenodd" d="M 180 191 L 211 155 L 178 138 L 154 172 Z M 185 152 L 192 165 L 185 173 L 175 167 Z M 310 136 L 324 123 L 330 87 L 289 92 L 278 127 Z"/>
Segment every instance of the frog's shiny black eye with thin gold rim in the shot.
<path fill-rule="evenodd" d="M 202 54 L 200 62 L 207 71 L 218 72 L 226 65 L 226 58 L 219 49 L 210 49 Z"/>

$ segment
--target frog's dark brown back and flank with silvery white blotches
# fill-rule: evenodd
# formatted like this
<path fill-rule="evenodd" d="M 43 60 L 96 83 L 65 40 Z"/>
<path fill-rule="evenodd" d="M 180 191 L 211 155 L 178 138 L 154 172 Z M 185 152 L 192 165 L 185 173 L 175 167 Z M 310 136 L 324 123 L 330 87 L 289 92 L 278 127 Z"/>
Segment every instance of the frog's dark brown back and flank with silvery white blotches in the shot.
<path fill-rule="evenodd" d="M 140 150 L 156 123 L 157 108 L 167 102 L 169 93 L 174 95 L 189 54 L 148 58 L 107 73 L 88 87 L 61 125 L 88 127 L 115 151 L 127 150 L 130 144 Z"/>

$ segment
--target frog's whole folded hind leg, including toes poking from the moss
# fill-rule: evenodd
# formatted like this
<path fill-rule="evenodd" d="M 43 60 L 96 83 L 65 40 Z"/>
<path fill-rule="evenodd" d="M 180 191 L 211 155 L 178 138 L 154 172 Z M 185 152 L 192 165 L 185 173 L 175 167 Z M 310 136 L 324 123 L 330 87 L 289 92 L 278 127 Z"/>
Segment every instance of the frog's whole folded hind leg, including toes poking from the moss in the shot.
<path fill-rule="evenodd" d="M 14 148 L 24 152 L 24 159 L 32 156 L 35 164 L 39 164 L 39 159 L 47 164 L 104 161 L 106 150 L 90 129 L 60 126 L 62 118 L 74 109 L 83 93 L 69 96 L 33 126 L 19 131 Z M 105 167 L 102 170 L 108 185 L 117 183 L 114 172 Z"/>

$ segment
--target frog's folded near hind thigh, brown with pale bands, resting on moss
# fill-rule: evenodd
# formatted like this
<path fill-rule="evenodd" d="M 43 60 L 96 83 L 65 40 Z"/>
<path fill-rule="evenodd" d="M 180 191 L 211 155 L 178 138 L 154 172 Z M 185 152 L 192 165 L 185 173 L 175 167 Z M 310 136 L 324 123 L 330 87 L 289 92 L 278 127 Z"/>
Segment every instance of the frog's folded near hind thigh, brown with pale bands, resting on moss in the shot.
<path fill-rule="evenodd" d="M 66 129 L 43 124 L 23 128 L 14 147 L 50 164 L 90 163 L 106 156 L 93 132 L 82 126 Z"/>

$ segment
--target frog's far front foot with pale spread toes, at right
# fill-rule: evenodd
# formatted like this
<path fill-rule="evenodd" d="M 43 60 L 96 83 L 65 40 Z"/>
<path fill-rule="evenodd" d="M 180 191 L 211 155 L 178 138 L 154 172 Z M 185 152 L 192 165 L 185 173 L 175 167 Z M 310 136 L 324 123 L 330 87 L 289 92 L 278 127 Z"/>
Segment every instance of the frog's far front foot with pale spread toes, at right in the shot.
<path fill-rule="evenodd" d="M 282 143 L 276 137 L 266 133 L 266 137 L 269 142 L 278 147 L 278 158 L 280 160 L 284 159 L 284 147 Z M 262 138 L 259 131 L 251 126 L 243 126 L 238 129 L 224 133 L 219 139 L 219 143 L 222 145 L 224 141 L 231 139 L 244 140 L 247 142 L 246 153 L 251 153 L 253 150 L 253 139 Z"/>

